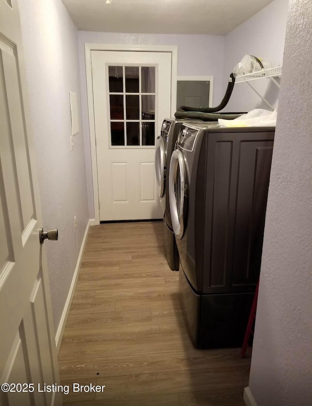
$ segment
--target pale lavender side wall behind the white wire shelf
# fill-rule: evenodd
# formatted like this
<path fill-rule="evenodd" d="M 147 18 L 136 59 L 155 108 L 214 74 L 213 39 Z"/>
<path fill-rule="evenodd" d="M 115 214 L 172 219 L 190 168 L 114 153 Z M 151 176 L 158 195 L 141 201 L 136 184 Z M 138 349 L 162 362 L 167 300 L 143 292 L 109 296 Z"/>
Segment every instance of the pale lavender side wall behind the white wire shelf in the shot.
<path fill-rule="evenodd" d="M 224 93 L 234 66 L 246 54 L 271 61 L 272 66 L 283 64 L 287 13 L 288 0 L 273 0 L 225 37 Z M 279 90 L 270 79 L 253 81 L 252 84 L 273 107 L 277 107 Z M 250 111 L 254 108 L 269 109 L 247 83 L 235 84 L 224 111 Z"/>

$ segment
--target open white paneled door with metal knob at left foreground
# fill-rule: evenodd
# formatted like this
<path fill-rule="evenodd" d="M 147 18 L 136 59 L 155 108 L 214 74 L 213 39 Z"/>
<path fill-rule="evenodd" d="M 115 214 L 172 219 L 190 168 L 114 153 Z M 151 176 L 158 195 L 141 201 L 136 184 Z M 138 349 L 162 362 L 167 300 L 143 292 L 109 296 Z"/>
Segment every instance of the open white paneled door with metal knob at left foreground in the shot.
<path fill-rule="evenodd" d="M 59 383 L 59 372 L 29 120 L 18 4 L 0 0 L 0 380 L 10 384 L 0 391 L 3 406 L 61 405 L 60 393 L 38 391 Z"/>

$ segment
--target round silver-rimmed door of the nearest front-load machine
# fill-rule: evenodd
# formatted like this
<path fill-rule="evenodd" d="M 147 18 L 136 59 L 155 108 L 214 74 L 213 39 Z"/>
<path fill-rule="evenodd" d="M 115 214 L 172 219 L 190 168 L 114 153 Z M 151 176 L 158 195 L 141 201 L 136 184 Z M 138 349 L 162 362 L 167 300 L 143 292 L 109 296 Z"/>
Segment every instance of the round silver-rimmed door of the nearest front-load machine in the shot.
<path fill-rule="evenodd" d="M 176 238 L 183 237 L 187 220 L 187 184 L 184 158 L 179 149 L 171 156 L 169 172 L 169 201 L 171 221 Z"/>

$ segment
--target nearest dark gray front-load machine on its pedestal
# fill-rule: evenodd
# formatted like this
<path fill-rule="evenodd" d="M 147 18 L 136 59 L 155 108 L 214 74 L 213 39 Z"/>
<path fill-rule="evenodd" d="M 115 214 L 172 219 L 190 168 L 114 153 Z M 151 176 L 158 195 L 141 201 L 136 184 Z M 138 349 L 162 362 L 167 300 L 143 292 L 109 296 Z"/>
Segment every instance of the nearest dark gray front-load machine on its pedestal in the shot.
<path fill-rule="evenodd" d="M 196 346 L 242 345 L 260 272 L 274 127 L 181 126 L 171 157 L 179 295 Z"/>

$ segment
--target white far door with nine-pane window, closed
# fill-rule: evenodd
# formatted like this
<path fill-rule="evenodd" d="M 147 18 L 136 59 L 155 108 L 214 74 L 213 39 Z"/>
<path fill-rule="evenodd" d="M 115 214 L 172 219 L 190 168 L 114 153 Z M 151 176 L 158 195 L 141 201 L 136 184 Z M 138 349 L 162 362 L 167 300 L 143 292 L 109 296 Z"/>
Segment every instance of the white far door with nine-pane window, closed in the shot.
<path fill-rule="evenodd" d="M 170 52 L 92 51 L 100 220 L 160 219 L 155 144 L 171 106 Z"/>

